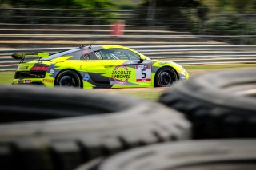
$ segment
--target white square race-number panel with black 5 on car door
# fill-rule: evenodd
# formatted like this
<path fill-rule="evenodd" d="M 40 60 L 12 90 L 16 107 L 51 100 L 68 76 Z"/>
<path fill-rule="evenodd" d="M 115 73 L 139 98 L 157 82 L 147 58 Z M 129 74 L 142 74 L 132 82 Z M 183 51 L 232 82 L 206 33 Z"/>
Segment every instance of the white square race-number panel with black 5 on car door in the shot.
<path fill-rule="evenodd" d="M 151 81 L 151 65 L 136 65 L 136 81 Z"/>

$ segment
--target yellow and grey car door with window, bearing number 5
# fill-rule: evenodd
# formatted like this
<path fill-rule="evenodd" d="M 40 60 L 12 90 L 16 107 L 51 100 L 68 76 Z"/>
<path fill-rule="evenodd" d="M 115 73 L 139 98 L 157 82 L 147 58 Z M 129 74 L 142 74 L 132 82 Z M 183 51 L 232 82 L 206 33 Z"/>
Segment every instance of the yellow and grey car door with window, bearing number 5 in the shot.
<path fill-rule="evenodd" d="M 102 57 L 106 69 L 105 76 L 113 88 L 152 86 L 150 61 L 140 60 L 140 56 L 128 49 L 102 49 L 95 52 Z"/>

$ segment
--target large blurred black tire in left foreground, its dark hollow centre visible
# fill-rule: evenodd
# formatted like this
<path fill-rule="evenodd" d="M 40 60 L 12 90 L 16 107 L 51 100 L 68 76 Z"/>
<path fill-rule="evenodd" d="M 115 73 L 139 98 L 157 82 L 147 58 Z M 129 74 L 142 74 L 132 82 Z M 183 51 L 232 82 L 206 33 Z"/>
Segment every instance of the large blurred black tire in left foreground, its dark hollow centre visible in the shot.
<path fill-rule="evenodd" d="M 0 113 L 1 120 L 20 121 L 0 125 L 2 169 L 72 169 L 129 148 L 190 138 L 190 123 L 175 110 L 90 90 L 0 86 Z"/>

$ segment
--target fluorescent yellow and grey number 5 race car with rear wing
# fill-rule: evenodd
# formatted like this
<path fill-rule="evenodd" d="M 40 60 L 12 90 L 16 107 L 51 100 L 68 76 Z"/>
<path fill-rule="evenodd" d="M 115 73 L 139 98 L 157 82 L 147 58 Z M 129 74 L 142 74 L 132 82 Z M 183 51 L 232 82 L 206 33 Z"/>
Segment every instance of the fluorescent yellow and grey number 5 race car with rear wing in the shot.
<path fill-rule="evenodd" d="M 26 56 L 38 56 L 24 62 Z M 81 45 L 59 53 L 14 53 L 21 62 L 13 84 L 46 87 L 134 88 L 167 87 L 189 74 L 172 61 L 150 60 L 120 45 Z"/>

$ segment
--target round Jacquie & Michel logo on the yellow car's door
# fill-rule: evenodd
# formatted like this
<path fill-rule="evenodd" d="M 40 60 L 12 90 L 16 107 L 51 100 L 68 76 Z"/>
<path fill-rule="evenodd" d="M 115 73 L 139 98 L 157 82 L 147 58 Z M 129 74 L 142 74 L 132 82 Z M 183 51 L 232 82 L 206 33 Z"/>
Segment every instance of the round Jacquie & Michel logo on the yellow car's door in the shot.
<path fill-rule="evenodd" d="M 113 78 L 117 84 L 123 85 L 130 79 L 130 74 L 131 71 L 129 71 L 126 66 L 118 65 L 112 71 L 111 78 Z"/>

